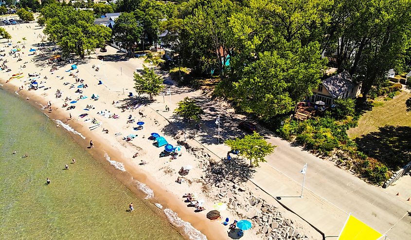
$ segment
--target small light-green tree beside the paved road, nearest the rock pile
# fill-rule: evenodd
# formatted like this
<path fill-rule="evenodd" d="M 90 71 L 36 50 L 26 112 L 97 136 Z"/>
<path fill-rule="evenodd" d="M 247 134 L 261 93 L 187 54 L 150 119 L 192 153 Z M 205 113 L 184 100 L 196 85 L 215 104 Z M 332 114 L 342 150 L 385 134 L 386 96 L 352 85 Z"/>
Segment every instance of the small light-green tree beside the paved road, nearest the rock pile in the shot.
<path fill-rule="evenodd" d="M 274 151 L 276 146 L 272 146 L 258 132 L 248 134 L 243 138 L 235 138 L 225 141 L 231 149 L 238 150 L 238 155 L 250 160 L 250 166 L 258 166 L 260 162 Z"/>

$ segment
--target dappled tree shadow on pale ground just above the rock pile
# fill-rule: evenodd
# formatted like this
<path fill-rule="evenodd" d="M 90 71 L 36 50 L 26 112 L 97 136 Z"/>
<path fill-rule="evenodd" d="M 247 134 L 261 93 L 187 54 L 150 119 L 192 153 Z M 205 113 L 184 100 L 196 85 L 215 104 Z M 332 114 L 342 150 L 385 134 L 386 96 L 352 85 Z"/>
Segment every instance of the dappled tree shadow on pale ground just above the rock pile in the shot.
<path fill-rule="evenodd" d="M 210 162 L 206 172 L 210 174 L 207 179 L 214 183 L 221 182 L 223 179 L 233 183 L 244 183 L 252 178 L 255 169 L 242 159 L 232 158 L 230 161 Z"/>

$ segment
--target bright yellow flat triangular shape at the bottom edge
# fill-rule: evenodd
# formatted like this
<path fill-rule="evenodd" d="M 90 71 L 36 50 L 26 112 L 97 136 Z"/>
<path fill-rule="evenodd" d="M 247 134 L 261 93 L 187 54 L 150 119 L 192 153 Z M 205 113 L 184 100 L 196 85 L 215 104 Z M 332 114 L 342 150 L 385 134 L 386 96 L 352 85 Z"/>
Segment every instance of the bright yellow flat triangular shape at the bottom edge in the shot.
<path fill-rule="evenodd" d="M 379 240 L 383 235 L 349 215 L 338 240 Z"/>

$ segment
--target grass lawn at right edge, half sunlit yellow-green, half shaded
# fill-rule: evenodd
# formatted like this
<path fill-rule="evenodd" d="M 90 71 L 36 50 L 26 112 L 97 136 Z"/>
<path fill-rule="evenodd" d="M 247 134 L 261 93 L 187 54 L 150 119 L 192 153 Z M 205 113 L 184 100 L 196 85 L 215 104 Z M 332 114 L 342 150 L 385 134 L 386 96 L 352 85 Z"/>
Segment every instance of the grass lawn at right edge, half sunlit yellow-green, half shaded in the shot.
<path fill-rule="evenodd" d="M 357 128 L 347 131 L 358 150 L 394 171 L 411 161 L 411 112 L 405 106 L 409 97 L 411 94 L 401 92 L 377 104 L 360 117 Z"/>

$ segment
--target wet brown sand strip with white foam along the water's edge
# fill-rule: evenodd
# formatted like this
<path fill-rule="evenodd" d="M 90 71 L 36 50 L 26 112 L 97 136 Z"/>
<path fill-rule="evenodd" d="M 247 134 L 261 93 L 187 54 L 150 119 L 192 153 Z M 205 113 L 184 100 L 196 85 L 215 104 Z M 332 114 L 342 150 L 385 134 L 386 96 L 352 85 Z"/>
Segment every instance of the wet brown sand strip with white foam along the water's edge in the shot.
<path fill-rule="evenodd" d="M 0 86 L 1 89 L 4 91 L 9 92 L 10 94 L 16 93 L 15 89 L 13 89 L 13 86 L 11 85 L 6 85 L 5 81 L 0 78 L 0 83 L 2 86 Z M 34 92 L 30 94 L 30 92 L 19 92 L 18 97 L 21 98 L 22 101 L 26 101 L 28 104 L 30 104 L 32 107 L 36 108 L 38 111 L 42 112 L 50 121 L 53 121 L 56 125 L 56 120 L 59 120 L 61 122 L 64 121 L 64 116 L 62 113 L 55 111 L 52 113 L 44 113 L 44 111 L 41 110 L 41 103 L 40 103 L 40 97 Z M 29 100 L 25 100 L 25 98 L 29 97 Z M 43 99 L 44 100 L 44 99 Z M 63 122 L 64 123 L 64 122 Z M 142 172 L 140 169 L 132 167 L 132 164 L 128 163 L 127 161 L 121 161 L 122 164 L 126 167 L 126 171 L 121 171 L 117 169 L 116 167 L 112 166 L 107 159 L 105 159 L 105 154 L 109 156 L 111 159 L 125 159 L 122 154 L 117 153 L 115 150 L 110 149 L 108 146 L 105 146 L 104 144 L 100 143 L 99 141 L 93 140 L 94 146 L 96 146 L 93 149 L 88 149 L 84 146 L 88 145 L 88 139 L 93 137 L 93 134 L 90 134 L 87 132 L 87 129 L 77 123 L 77 122 L 70 122 L 70 123 L 65 123 L 69 125 L 72 129 L 78 131 L 81 133 L 85 139 L 80 137 L 78 134 L 71 132 L 67 129 L 64 129 L 67 134 L 71 136 L 74 142 L 76 142 L 80 147 L 86 149 L 89 154 L 92 156 L 92 158 L 97 161 L 103 168 L 113 177 L 116 178 L 118 181 L 120 181 L 123 185 L 125 185 L 130 191 L 133 192 L 133 194 L 142 200 L 146 200 L 148 203 L 150 203 L 150 207 L 154 210 L 158 209 L 161 210 L 161 217 L 166 218 L 167 216 L 164 213 L 164 209 L 171 209 L 174 213 L 178 214 L 178 217 L 187 223 L 190 223 L 196 230 L 200 231 L 202 234 L 204 234 L 208 240 L 221 240 L 225 239 L 226 236 L 216 236 L 216 232 L 213 231 L 213 228 L 218 224 L 215 224 L 216 222 L 210 222 L 213 224 L 208 224 L 208 220 L 200 220 L 198 219 L 198 216 L 196 214 L 191 214 L 188 213 L 186 210 L 187 207 L 185 204 L 182 204 L 175 199 L 175 196 L 170 193 L 169 190 L 164 189 L 159 185 L 159 183 L 156 183 L 155 179 L 153 179 L 154 176 L 149 176 L 146 173 Z M 98 146 L 98 147 L 97 147 Z M 145 193 L 141 188 L 139 188 L 138 185 L 136 185 L 136 182 L 146 185 L 148 188 L 148 191 L 152 191 L 153 195 L 152 196 L 145 196 L 147 193 Z M 145 197 L 144 197 L 145 196 Z M 160 203 L 162 208 L 160 209 L 158 206 L 156 206 L 156 203 Z M 168 222 L 186 239 L 197 239 L 197 238 L 190 238 L 188 234 L 185 232 L 184 227 L 182 226 L 176 226 L 176 223 L 171 222 L 169 219 L 167 219 Z M 181 222 L 179 222 L 181 224 Z M 200 239 L 200 238 L 198 238 Z"/>

